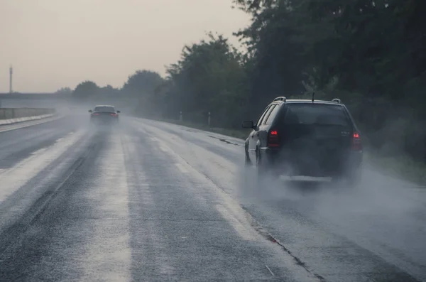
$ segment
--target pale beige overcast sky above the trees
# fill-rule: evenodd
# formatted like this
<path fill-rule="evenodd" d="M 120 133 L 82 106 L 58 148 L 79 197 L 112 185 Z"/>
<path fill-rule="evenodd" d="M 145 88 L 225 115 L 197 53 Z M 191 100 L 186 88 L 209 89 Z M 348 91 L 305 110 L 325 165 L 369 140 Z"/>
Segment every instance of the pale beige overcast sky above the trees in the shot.
<path fill-rule="evenodd" d="M 121 87 L 164 75 L 206 31 L 232 37 L 249 15 L 231 0 L 0 0 L 0 92 L 54 92 L 83 80 Z M 236 38 L 231 43 L 239 45 Z"/>

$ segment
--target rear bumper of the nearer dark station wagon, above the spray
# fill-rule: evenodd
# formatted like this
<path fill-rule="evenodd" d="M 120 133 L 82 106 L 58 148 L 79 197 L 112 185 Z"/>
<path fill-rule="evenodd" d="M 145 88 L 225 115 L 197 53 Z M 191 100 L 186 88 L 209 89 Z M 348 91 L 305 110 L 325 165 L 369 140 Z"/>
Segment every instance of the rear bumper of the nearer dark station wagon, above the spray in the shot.
<path fill-rule="evenodd" d="M 322 160 L 309 154 L 295 155 L 278 148 L 262 148 L 261 163 L 271 173 L 287 176 L 336 177 L 361 168 L 362 151 L 346 151 Z"/>

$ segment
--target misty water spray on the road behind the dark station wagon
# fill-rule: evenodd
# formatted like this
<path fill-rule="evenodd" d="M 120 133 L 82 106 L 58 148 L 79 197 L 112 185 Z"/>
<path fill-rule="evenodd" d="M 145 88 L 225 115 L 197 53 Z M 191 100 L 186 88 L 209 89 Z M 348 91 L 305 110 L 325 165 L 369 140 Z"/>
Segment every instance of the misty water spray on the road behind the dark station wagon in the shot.
<path fill-rule="evenodd" d="M 297 242 L 298 236 L 316 237 L 297 233 L 300 226 L 287 219 L 300 217 L 312 222 L 313 229 L 337 234 L 426 278 L 425 266 L 413 266 L 413 261 L 426 261 L 425 187 L 383 175 L 381 168 L 368 161 L 364 161 L 361 183 L 355 187 L 303 177 L 297 181 L 283 175 L 278 180 L 271 175 L 260 177 L 253 167 L 242 168 L 240 178 L 238 196 L 248 210 L 265 215 L 258 219 L 265 220 L 267 227 L 275 229 L 283 215 L 288 220 L 275 233 L 282 229 L 288 237 L 278 235 L 277 239 Z"/>

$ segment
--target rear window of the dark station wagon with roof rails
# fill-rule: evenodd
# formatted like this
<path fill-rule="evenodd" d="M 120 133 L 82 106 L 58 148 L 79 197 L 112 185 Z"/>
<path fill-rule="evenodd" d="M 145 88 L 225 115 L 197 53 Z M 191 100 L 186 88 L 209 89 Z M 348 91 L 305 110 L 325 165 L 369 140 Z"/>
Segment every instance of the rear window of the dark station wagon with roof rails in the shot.
<path fill-rule="evenodd" d="M 350 126 L 351 121 L 340 105 L 300 103 L 287 105 L 284 123 Z"/>

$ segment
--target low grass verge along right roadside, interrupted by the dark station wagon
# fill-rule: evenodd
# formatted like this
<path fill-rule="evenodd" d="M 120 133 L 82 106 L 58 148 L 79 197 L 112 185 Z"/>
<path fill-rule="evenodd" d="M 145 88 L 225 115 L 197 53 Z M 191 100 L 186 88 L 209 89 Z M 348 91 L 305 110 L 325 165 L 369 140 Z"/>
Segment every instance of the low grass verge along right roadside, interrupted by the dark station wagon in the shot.
<path fill-rule="evenodd" d="M 176 121 L 163 119 L 160 121 L 168 122 L 171 124 L 179 124 L 188 126 L 194 129 L 210 131 L 217 134 L 223 134 L 238 139 L 246 139 L 249 136 L 251 129 L 223 129 L 218 127 L 209 127 L 204 124 L 195 124 L 187 121 Z M 399 178 L 407 180 L 418 185 L 426 185 L 426 164 L 413 161 L 412 158 L 406 156 L 385 156 L 376 152 L 372 148 L 366 148 L 365 161 L 371 163 L 383 175 L 388 175 L 392 178 Z"/>

